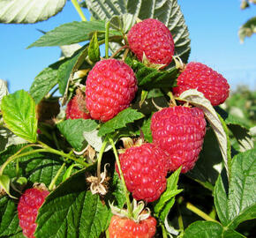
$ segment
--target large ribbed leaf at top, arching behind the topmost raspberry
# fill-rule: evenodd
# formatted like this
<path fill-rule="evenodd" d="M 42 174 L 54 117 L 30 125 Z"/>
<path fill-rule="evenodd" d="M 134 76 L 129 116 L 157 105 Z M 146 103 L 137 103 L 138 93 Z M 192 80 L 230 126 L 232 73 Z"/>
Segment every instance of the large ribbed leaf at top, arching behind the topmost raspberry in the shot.
<path fill-rule="evenodd" d="M 94 19 L 107 20 L 125 13 L 131 13 L 135 19 L 159 19 L 173 35 L 177 56 L 187 62 L 189 32 L 177 0 L 87 0 L 87 7 Z"/>

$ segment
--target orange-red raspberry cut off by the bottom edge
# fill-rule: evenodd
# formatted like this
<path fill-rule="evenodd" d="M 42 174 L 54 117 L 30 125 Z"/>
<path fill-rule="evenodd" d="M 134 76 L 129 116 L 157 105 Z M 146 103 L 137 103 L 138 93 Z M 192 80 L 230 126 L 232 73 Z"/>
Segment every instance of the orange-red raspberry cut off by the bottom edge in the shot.
<path fill-rule="evenodd" d="M 136 223 L 132 219 L 114 215 L 109 224 L 110 238 L 152 238 L 155 234 L 156 219 L 149 217 Z"/>

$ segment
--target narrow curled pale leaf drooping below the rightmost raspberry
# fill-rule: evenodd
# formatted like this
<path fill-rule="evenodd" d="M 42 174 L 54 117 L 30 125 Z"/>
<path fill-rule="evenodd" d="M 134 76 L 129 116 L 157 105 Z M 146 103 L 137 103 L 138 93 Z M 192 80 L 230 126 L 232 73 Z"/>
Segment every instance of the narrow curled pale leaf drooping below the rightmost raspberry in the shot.
<path fill-rule="evenodd" d="M 211 102 L 204 97 L 203 93 L 200 93 L 196 89 L 190 89 L 181 93 L 179 98 L 188 100 L 192 105 L 201 108 L 207 118 L 207 121 L 211 124 L 215 131 L 216 138 L 218 139 L 220 149 L 222 152 L 222 159 L 227 170 L 227 175 L 230 177 L 230 149 L 229 141 L 227 137 L 227 131 L 223 126 L 221 116 L 218 116 L 213 108 Z"/>

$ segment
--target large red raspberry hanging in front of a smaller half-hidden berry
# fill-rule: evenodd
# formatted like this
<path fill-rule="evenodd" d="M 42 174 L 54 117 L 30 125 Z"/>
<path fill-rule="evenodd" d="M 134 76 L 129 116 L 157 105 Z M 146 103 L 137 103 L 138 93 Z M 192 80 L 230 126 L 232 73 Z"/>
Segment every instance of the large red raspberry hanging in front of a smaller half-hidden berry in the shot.
<path fill-rule="evenodd" d="M 87 109 L 92 118 L 107 122 L 129 107 L 137 89 L 137 79 L 126 63 L 117 59 L 102 60 L 87 77 Z"/>

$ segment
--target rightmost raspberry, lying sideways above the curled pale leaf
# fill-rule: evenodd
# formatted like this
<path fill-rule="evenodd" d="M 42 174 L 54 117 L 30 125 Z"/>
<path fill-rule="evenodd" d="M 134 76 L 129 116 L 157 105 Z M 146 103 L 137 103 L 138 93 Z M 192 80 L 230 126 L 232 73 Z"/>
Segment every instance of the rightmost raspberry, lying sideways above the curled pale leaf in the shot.
<path fill-rule="evenodd" d="M 188 89 L 197 89 L 204 93 L 213 106 L 222 104 L 230 93 L 226 78 L 203 63 L 186 64 L 184 71 L 177 78 L 177 87 L 173 93 L 179 96 Z"/>

